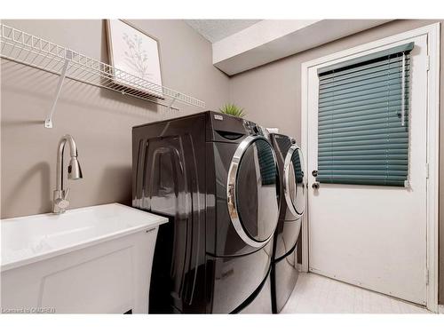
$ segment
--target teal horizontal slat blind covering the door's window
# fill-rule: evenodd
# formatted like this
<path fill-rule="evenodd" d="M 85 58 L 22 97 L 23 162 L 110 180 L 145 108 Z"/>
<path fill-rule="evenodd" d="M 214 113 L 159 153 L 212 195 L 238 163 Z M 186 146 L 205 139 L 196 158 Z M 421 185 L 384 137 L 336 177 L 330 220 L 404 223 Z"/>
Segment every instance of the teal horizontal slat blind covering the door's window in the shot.
<path fill-rule="evenodd" d="M 413 45 L 318 71 L 318 182 L 406 185 Z"/>

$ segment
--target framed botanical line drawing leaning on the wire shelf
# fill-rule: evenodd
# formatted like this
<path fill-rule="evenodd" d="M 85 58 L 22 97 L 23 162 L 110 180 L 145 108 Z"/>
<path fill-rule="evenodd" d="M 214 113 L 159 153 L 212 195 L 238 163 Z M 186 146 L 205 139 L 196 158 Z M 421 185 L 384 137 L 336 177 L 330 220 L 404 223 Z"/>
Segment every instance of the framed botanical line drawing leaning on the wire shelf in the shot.
<path fill-rule="evenodd" d="M 163 98 L 159 42 L 153 36 L 124 20 L 107 20 L 107 45 L 117 85 Z M 124 72 L 136 77 L 128 79 Z"/>

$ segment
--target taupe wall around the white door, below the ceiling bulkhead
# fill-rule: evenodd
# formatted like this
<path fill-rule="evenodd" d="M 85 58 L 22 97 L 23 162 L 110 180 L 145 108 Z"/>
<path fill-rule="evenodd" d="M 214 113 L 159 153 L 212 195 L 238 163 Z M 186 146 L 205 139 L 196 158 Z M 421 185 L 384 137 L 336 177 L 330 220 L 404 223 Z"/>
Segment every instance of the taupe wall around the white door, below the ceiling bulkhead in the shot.
<path fill-rule="evenodd" d="M 248 118 L 278 127 L 299 141 L 301 133 L 301 64 L 330 53 L 419 28 L 437 20 L 396 20 L 353 36 L 321 45 L 230 78 L 230 99 L 245 107 Z M 440 21 L 444 23 L 444 20 Z M 443 28 L 441 26 L 441 28 Z M 441 93 L 444 100 L 444 38 L 441 33 Z M 444 129 L 444 117 L 440 128 Z M 442 130 L 441 130 L 442 131 Z M 444 135 L 440 136 L 440 175 L 444 175 Z M 444 244 L 444 177 L 440 177 L 440 244 Z M 440 246 L 440 304 L 444 304 L 444 246 Z"/>

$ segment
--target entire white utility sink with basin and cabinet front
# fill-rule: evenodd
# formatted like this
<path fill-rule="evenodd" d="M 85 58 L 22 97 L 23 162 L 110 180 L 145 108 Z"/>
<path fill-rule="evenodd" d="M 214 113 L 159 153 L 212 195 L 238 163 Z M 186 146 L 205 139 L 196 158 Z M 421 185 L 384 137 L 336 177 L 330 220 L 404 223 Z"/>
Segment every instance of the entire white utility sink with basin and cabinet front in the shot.
<path fill-rule="evenodd" d="M 1 221 L 4 313 L 147 313 L 155 214 L 119 203 Z"/>

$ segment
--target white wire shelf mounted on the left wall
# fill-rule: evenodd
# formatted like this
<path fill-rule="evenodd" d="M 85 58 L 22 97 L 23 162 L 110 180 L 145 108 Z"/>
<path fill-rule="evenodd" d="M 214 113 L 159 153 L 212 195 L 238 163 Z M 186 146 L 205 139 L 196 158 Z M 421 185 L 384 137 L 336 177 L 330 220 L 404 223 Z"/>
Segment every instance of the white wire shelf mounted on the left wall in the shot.
<path fill-rule="evenodd" d="M 194 107 L 205 107 L 202 100 L 194 99 L 182 92 L 149 82 L 19 29 L 4 24 L 0 26 L 0 56 L 4 59 L 36 67 L 52 74 L 63 75 L 78 82 L 118 91 L 138 99 L 155 103 L 158 103 L 158 99 L 168 99 L 169 107 L 175 101 Z"/>

